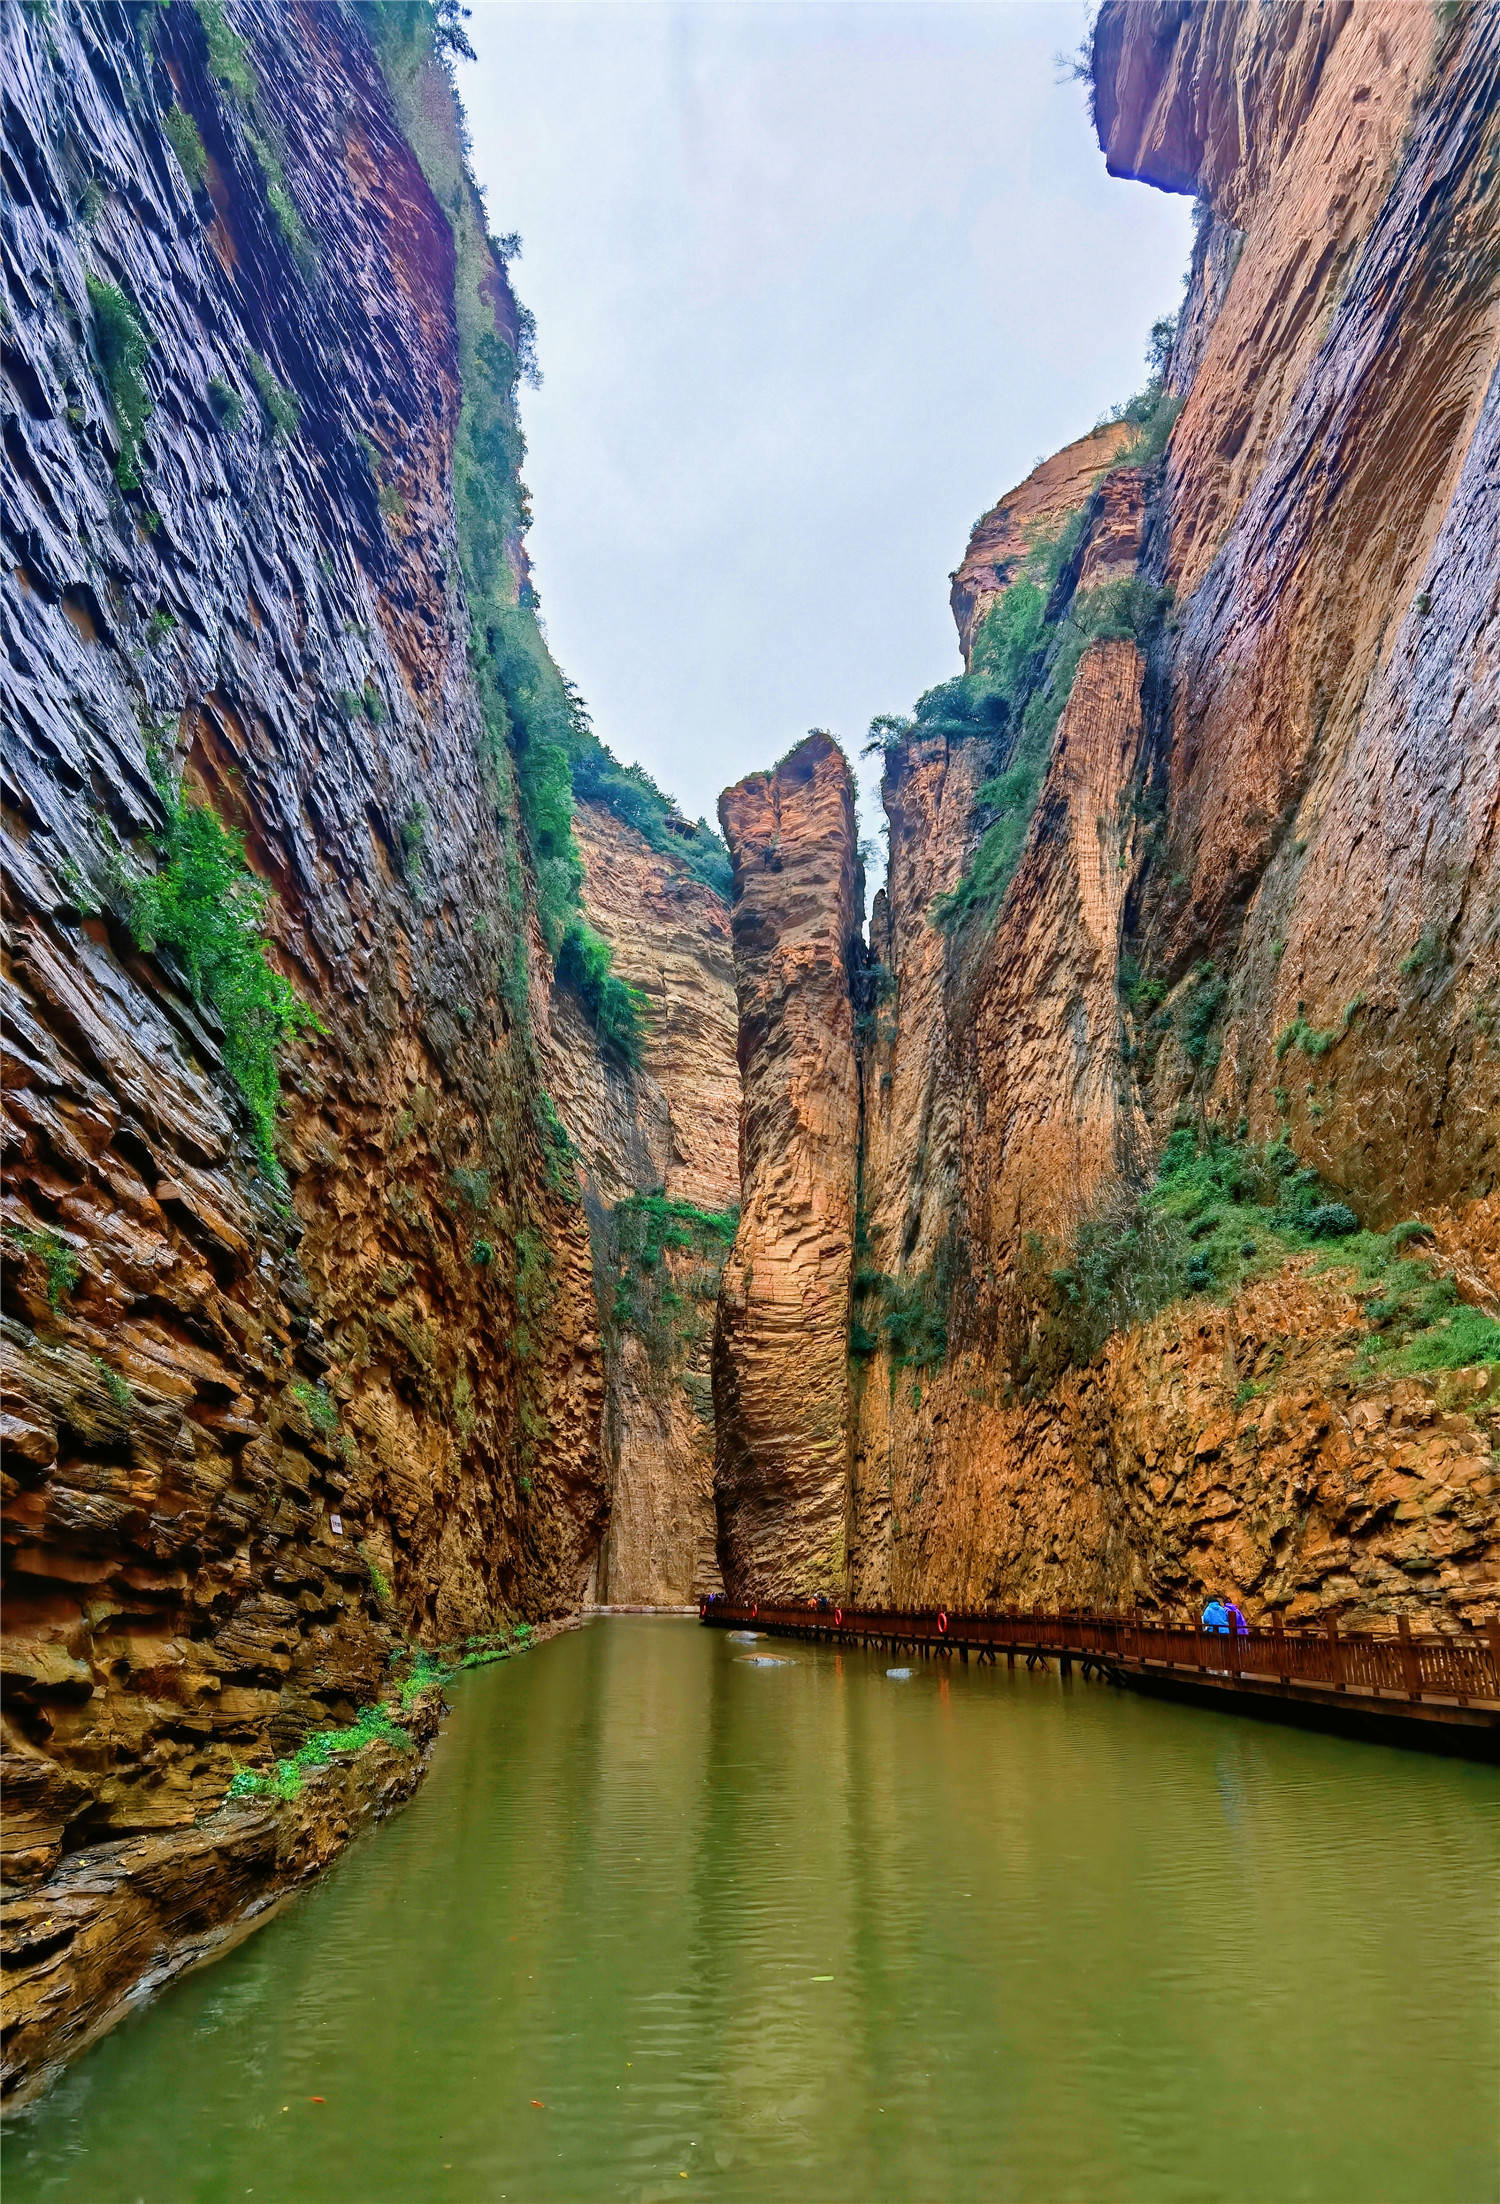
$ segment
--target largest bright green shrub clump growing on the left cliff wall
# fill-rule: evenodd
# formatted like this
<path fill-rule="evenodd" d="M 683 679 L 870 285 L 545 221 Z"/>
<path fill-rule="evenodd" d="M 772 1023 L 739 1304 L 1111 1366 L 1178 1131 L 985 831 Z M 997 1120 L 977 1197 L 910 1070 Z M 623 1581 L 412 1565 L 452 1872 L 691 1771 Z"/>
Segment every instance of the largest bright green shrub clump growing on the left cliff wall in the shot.
<path fill-rule="evenodd" d="M 161 868 L 132 888 L 134 939 L 143 950 L 174 950 L 194 996 L 218 1012 L 225 1069 L 249 1113 L 260 1162 L 280 1184 L 278 1056 L 297 1034 L 324 1027 L 267 959 L 271 888 L 251 873 L 244 835 L 165 776 L 156 787 L 165 807 L 156 835 Z"/>

